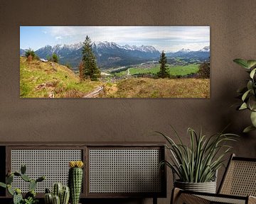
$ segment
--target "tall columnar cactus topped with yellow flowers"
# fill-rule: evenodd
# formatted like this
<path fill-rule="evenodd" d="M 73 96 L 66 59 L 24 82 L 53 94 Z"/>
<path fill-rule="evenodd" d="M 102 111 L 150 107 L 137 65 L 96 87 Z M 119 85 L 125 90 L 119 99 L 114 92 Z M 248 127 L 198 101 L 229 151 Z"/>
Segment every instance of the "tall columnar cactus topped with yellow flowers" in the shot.
<path fill-rule="evenodd" d="M 82 188 L 82 161 L 70 162 L 68 172 L 68 186 L 70 187 L 70 200 L 78 204 Z"/>

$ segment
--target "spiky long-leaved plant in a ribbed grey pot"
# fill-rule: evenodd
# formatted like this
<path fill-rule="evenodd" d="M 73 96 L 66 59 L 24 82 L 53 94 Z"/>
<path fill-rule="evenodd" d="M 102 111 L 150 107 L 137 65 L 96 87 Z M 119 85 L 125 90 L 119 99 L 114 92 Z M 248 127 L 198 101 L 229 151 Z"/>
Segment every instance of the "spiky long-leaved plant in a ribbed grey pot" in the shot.
<path fill-rule="evenodd" d="M 223 166 L 224 156 L 232 148 L 225 143 L 235 141 L 238 135 L 220 132 L 207 137 L 202 131 L 196 133 L 192 128 L 188 128 L 190 144 L 186 145 L 175 130 L 174 135 L 178 142 L 161 132 L 157 133 L 166 139 L 166 149 L 171 153 L 170 161 L 162 161 L 161 165 L 165 164 L 173 171 L 174 187 L 215 193 L 217 171 Z"/>

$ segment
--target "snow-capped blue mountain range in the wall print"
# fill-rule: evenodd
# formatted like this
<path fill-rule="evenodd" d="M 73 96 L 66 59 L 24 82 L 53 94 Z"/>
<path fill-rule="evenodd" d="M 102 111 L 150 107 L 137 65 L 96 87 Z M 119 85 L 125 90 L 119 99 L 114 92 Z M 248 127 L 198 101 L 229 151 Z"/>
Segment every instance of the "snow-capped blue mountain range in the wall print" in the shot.
<path fill-rule="evenodd" d="M 97 65 L 101 69 L 109 67 L 122 67 L 132 64 L 140 64 L 159 60 L 160 52 L 151 45 L 118 45 L 115 42 L 93 42 L 92 51 L 95 54 Z M 26 50 L 20 49 L 20 55 L 24 55 Z M 70 64 L 78 67 L 82 59 L 82 42 L 73 45 L 46 45 L 35 51 L 40 58 L 47 59 L 53 53 L 60 57 L 60 64 Z M 166 57 L 193 58 L 203 62 L 210 57 L 210 46 L 203 47 L 201 50 L 192 51 L 181 49 L 178 52 L 168 52 Z"/>

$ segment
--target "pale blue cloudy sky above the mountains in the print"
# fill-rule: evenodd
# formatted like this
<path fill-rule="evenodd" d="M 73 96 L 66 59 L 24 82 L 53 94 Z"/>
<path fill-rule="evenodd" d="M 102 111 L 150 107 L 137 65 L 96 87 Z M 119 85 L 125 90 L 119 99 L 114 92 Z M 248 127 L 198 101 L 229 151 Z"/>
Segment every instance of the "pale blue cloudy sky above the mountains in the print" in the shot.
<path fill-rule="evenodd" d="M 21 26 L 20 47 L 38 50 L 46 45 L 70 45 L 84 41 L 86 35 L 92 42 L 153 45 L 165 52 L 210 45 L 209 26 Z"/>

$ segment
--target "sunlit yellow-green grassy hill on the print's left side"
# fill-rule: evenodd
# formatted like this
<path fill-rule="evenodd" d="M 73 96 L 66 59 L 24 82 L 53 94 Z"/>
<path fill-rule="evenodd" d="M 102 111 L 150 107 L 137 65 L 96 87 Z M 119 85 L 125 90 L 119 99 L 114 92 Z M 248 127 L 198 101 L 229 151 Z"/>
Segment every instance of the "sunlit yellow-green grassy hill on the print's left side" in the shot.
<path fill-rule="evenodd" d="M 77 98 L 101 86 L 102 82 L 82 81 L 68 67 L 55 62 L 20 57 L 21 98 Z"/>

